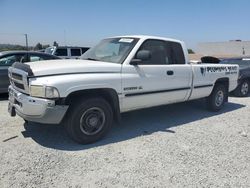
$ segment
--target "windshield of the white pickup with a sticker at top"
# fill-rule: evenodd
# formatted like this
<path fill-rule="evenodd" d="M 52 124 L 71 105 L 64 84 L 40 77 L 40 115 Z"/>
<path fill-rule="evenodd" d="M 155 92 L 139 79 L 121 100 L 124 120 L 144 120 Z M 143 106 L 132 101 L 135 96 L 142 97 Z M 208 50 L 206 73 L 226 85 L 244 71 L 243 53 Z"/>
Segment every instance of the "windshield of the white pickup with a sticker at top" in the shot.
<path fill-rule="evenodd" d="M 104 39 L 83 54 L 80 59 L 121 64 L 137 42 L 137 38 Z"/>

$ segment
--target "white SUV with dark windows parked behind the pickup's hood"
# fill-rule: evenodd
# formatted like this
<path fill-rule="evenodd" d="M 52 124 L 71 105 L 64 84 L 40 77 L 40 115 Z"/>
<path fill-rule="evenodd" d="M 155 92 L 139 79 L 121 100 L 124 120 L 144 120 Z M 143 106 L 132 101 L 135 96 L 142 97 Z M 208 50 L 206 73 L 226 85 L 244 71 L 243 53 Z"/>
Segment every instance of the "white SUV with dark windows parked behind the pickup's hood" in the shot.
<path fill-rule="evenodd" d="M 84 54 L 89 47 L 52 46 L 45 49 L 45 53 L 56 55 L 63 59 L 77 59 Z"/>

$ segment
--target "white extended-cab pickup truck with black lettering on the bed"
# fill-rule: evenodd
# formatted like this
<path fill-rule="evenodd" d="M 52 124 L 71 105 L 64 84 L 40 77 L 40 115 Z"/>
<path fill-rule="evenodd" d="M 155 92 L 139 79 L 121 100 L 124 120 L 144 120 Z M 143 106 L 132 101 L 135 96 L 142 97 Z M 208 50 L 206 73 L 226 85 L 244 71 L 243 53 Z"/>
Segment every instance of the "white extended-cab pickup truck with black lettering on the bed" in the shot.
<path fill-rule="evenodd" d="M 27 122 L 62 123 L 73 140 L 86 144 L 103 137 L 122 112 L 199 98 L 218 111 L 238 74 L 238 65 L 189 64 L 178 40 L 112 37 L 79 60 L 15 63 L 9 112 Z"/>

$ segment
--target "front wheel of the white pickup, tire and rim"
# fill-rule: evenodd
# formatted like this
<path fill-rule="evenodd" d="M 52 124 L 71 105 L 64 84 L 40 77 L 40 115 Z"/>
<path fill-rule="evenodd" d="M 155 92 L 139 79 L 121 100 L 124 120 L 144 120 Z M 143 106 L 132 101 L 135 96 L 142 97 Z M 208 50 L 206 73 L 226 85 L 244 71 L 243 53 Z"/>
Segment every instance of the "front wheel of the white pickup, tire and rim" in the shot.
<path fill-rule="evenodd" d="M 65 128 L 68 135 L 80 144 L 100 140 L 113 123 L 113 111 L 103 98 L 88 98 L 71 105 L 66 116 Z"/>

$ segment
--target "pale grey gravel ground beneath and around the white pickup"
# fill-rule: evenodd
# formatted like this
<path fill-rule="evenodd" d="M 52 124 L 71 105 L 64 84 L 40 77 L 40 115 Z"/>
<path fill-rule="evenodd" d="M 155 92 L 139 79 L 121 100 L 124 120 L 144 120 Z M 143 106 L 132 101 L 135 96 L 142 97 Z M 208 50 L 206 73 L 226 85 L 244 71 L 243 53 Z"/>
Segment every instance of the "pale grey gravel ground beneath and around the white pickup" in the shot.
<path fill-rule="evenodd" d="M 0 187 L 250 187 L 250 97 L 218 113 L 201 101 L 122 115 L 102 140 L 24 124 L 0 101 Z"/>

